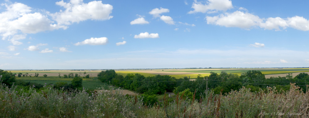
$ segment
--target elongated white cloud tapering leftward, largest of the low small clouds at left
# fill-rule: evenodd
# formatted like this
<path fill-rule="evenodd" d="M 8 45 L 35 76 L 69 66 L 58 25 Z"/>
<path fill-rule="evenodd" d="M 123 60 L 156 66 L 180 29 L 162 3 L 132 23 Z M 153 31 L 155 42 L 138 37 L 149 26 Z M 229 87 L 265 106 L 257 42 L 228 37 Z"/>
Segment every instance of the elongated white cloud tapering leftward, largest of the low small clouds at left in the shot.
<path fill-rule="evenodd" d="M 100 37 L 100 38 L 90 38 L 90 39 L 86 39 L 83 42 L 78 42 L 75 43 L 75 46 L 79 46 L 79 45 L 105 45 L 108 42 L 107 37 Z"/>

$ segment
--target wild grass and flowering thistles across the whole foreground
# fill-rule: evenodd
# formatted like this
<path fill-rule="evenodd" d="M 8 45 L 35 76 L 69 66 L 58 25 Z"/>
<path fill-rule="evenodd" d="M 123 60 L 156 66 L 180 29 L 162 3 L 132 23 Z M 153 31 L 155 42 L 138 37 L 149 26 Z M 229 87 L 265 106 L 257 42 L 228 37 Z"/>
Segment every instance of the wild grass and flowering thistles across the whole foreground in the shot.
<path fill-rule="evenodd" d="M 178 94 L 173 102 L 167 96 L 146 106 L 142 97 L 127 97 L 120 90 L 57 90 L 45 85 L 36 91 L 0 85 L 0 117 L 308 117 L 309 92 L 291 84 L 289 91 L 275 88 L 251 92 L 241 88 L 228 94 L 186 98 Z M 308 87 L 307 87 L 308 88 Z M 112 88 L 110 88 L 112 89 Z M 201 94 L 205 94 L 201 93 Z"/>

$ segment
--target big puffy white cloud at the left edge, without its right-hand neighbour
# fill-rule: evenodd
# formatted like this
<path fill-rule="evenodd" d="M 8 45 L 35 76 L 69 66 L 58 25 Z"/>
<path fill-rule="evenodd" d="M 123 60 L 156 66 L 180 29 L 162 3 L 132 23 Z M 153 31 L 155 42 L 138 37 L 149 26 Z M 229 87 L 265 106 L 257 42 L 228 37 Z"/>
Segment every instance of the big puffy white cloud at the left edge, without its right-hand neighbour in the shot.
<path fill-rule="evenodd" d="M 39 12 L 31 13 L 32 8 L 23 3 L 3 3 L 6 11 L 0 13 L 0 36 L 13 45 L 20 45 L 18 40 L 25 39 L 26 33 L 38 33 L 46 30 L 66 28 L 53 24 L 47 15 Z"/>

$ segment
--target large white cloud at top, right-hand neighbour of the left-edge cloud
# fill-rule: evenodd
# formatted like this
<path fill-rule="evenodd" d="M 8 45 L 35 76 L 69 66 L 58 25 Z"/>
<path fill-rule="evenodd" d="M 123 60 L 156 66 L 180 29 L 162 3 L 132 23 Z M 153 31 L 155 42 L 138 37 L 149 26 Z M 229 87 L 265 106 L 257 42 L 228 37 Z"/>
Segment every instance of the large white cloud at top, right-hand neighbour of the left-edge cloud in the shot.
<path fill-rule="evenodd" d="M 72 23 L 79 23 L 84 20 L 109 20 L 113 16 L 113 6 L 110 4 L 103 4 L 102 1 L 91 1 L 83 3 L 83 0 L 71 0 L 70 2 L 63 2 L 63 0 L 56 2 L 57 5 L 64 7 L 65 10 L 52 14 L 53 19 L 58 24 L 70 25 Z"/>

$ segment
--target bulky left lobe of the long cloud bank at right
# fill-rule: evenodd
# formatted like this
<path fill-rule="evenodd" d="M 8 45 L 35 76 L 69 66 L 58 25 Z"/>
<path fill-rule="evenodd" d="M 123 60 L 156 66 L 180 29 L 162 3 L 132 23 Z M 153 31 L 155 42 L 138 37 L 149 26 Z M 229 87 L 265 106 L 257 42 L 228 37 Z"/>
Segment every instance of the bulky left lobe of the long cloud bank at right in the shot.
<path fill-rule="evenodd" d="M 233 13 L 225 13 L 219 16 L 206 16 L 207 24 L 216 24 L 225 27 L 239 27 L 249 29 L 253 26 L 258 26 L 262 20 L 259 16 L 241 11 Z"/>

